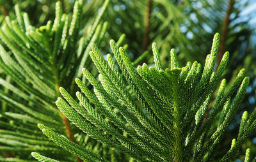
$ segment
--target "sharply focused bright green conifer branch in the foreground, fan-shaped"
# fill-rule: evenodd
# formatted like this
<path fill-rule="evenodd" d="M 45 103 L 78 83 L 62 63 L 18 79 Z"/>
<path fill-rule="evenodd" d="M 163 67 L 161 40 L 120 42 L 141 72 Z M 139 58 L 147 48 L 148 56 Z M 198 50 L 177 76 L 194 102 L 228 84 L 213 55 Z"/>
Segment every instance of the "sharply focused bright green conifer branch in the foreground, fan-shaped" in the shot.
<path fill-rule="evenodd" d="M 214 71 L 219 41 L 220 36 L 216 34 L 203 70 L 197 62 L 180 68 L 175 50 L 171 52 L 172 68 L 163 70 L 155 43 L 156 67 L 143 64 L 135 70 L 124 48 L 118 50 L 115 41 L 111 40 L 111 50 L 118 63 L 116 66 L 112 55 L 108 55 L 106 61 L 92 44 L 90 56 L 99 70 L 100 82 L 86 68 L 83 74 L 93 85 L 95 93 L 76 78 L 76 84 L 86 97 L 76 92 L 77 102 L 60 87 L 60 93 L 67 102 L 58 98 L 56 105 L 81 131 L 137 161 L 212 161 L 249 84 L 249 78 L 244 77 L 244 69 L 239 71 L 231 87 L 226 87 L 225 79 L 221 81 L 228 52 Z M 220 82 L 217 97 L 209 110 L 212 93 Z M 231 101 L 233 95 L 235 98 Z M 205 117 L 207 112 L 208 117 Z M 239 147 L 256 127 L 255 114 L 256 110 L 250 117 L 244 112 L 239 135 L 220 161 L 236 158 Z M 216 122 L 219 124 L 214 125 Z M 52 141 L 79 158 L 104 161 L 97 154 L 83 151 L 79 145 L 68 142 L 67 138 L 50 128 L 43 125 L 39 128 Z M 246 160 L 249 156 L 250 152 L 247 152 Z"/>

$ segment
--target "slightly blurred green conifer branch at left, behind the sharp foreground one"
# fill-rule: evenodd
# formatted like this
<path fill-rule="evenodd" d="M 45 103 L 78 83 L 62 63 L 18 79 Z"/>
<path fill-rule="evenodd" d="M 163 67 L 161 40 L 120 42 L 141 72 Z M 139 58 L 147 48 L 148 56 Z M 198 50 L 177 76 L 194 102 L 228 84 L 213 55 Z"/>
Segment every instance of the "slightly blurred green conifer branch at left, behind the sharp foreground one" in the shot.
<path fill-rule="evenodd" d="M 84 5 L 81 0 L 74 3 L 72 16 L 63 13 L 58 1 L 56 17 L 46 26 L 32 26 L 28 14 L 22 13 L 17 5 L 16 17 L 5 18 L 0 29 L 0 68 L 4 72 L 0 78 L 0 151 L 14 154 L 17 158 L 13 161 L 33 159 L 29 156 L 31 151 L 42 152 L 61 161 L 74 161 L 74 156 L 61 151 L 58 145 L 38 132 L 36 124 L 51 126 L 52 130 L 68 136 L 70 140 L 77 140 L 70 134 L 73 128 L 56 109 L 54 101 L 60 96 L 58 87 L 68 86 L 69 91 L 74 91 L 70 86 L 72 78 L 79 77 L 79 66 L 84 67 L 88 63 L 88 43 L 100 44 L 102 41 L 108 25 L 106 22 L 101 24 L 100 18 L 108 3 L 104 3 L 95 22 L 88 24 L 92 26 L 88 35 L 79 34 L 84 27 L 81 24 Z M 76 136 L 79 133 L 77 131 Z M 84 138 L 80 136 L 80 140 Z M 97 144 L 95 140 L 87 140 L 90 147 Z M 33 156 L 45 160 L 40 154 L 33 153 Z M 12 159 L 3 158 L 1 161 Z"/>

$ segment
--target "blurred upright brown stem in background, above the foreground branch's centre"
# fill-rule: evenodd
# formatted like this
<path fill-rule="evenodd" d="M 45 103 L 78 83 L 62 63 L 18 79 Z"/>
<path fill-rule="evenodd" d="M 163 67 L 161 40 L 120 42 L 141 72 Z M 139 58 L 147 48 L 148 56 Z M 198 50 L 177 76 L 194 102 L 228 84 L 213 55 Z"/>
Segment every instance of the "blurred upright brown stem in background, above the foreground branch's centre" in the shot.
<path fill-rule="evenodd" d="M 152 0 L 148 0 L 147 10 L 145 14 L 145 34 L 143 39 L 143 51 L 147 50 L 149 45 L 149 33 L 150 33 L 150 15 L 152 9 Z"/>

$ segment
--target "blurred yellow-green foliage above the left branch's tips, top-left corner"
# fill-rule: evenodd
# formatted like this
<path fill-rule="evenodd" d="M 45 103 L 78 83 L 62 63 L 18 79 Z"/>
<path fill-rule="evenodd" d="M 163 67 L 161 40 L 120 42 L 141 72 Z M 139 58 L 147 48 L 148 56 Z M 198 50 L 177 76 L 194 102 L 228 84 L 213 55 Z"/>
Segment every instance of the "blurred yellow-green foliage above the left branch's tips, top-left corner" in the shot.
<path fill-rule="evenodd" d="M 15 17 L 15 4 L 20 6 L 21 11 L 25 11 L 29 15 L 29 20 L 33 26 L 39 27 L 47 23 L 48 20 L 52 20 L 55 15 L 55 4 L 57 0 L 47 1 L 47 0 L 1 0 L 0 1 L 0 22 L 4 22 L 4 16 L 9 15 L 10 17 Z M 97 10 L 104 3 L 103 1 L 86 1 L 86 5 L 83 6 L 81 14 L 83 19 L 82 24 L 86 22 L 91 22 L 94 20 Z M 72 15 L 72 10 L 74 8 L 74 1 L 61 0 L 61 8 L 63 13 L 67 15 Z M 92 23 L 90 23 L 92 24 Z"/>

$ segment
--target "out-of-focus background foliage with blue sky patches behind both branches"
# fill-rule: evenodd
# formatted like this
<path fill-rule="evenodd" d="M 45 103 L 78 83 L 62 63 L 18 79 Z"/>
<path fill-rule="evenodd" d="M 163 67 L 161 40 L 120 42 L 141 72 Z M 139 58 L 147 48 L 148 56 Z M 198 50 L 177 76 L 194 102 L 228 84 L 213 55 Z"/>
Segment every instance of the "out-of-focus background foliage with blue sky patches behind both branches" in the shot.
<path fill-rule="evenodd" d="M 0 23 L 4 17 L 15 15 L 14 4 L 19 4 L 26 11 L 31 24 L 36 27 L 53 20 L 56 1 L 49 0 L 0 0 Z M 62 0 L 63 11 L 70 13 L 74 0 Z M 102 0 L 87 0 L 83 6 L 82 26 L 93 21 L 99 13 Z M 105 54 L 109 52 L 108 42 L 111 38 L 118 40 L 125 33 L 127 51 L 131 59 L 136 60 L 143 52 L 149 51 L 143 62 L 153 63 L 151 54 L 152 42 L 156 42 L 161 51 L 161 60 L 165 68 L 170 67 L 170 48 L 178 52 L 180 64 L 187 61 L 198 61 L 204 64 L 205 56 L 211 50 L 214 33 L 221 34 L 218 60 L 225 51 L 230 52 L 230 61 L 225 71 L 225 78 L 232 80 L 237 71 L 246 69 L 250 85 L 241 105 L 241 112 L 236 115 L 228 130 L 228 138 L 221 145 L 220 154 L 229 148 L 234 135 L 237 134 L 241 115 L 244 110 L 250 112 L 256 107 L 256 2 L 253 0 L 112 0 L 103 20 L 109 22 L 106 39 L 100 47 Z M 84 26 L 80 34 L 87 34 L 90 26 Z M 147 54 L 147 53 L 145 53 Z M 216 68 L 218 63 L 216 64 Z M 6 78 L 8 79 L 8 78 Z M 250 142 L 252 141 L 252 142 Z M 256 133 L 252 140 L 243 145 L 256 152 Z M 243 159 L 243 157 L 240 157 Z M 238 159 L 237 159 L 238 160 Z"/>

